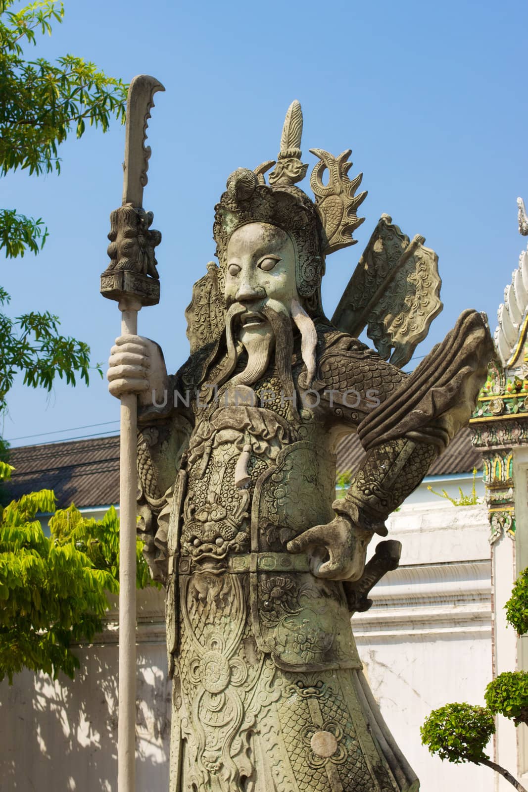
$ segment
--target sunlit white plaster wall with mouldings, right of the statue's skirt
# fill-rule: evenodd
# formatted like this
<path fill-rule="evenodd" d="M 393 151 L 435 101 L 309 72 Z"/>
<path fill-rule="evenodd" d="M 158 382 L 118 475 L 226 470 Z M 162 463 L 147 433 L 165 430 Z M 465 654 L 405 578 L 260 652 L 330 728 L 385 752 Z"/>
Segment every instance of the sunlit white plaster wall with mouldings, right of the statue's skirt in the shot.
<path fill-rule="evenodd" d="M 403 545 L 401 565 L 374 588 L 370 611 L 352 619 L 374 697 L 424 792 L 495 788 L 488 768 L 442 762 L 420 741 L 431 710 L 484 704 L 492 678 L 488 535 L 482 505 L 405 505 L 389 525 L 389 538 Z"/>

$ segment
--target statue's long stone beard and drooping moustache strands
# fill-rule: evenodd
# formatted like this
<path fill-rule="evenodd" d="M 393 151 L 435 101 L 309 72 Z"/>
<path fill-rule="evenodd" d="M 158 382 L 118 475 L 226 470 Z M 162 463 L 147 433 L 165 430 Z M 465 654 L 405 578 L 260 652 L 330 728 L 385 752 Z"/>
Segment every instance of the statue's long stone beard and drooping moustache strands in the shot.
<path fill-rule="evenodd" d="M 242 333 L 242 345 L 248 356 L 248 362 L 231 380 L 231 385 L 253 385 L 264 376 L 275 349 L 275 367 L 283 393 L 286 398 L 294 396 L 294 381 L 291 372 L 291 359 L 294 350 L 292 320 L 301 333 L 301 354 L 306 364 L 306 386 L 310 387 L 315 374 L 315 348 L 317 332 L 312 319 L 300 306 L 296 299 L 289 306 L 278 300 L 264 298 L 263 303 L 252 306 L 252 310 L 263 314 L 268 320 L 268 328 L 245 331 Z M 230 378 L 237 365 L 238 352 L 235 333 L 240 329 L 239 318 L 247 311 L 241 303 L 233 303 L 226 314 L 227 357 L 222 369 L 218 372 L 215 385 L 221 386 Z"/>

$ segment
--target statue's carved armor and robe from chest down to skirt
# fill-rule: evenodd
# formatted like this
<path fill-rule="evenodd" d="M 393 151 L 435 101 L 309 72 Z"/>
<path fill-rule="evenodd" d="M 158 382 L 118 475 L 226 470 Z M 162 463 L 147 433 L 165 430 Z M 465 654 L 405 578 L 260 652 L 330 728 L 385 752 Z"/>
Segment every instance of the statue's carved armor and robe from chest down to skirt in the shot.
<path fill-rule="evenodd" d="M 293 411 L 273 374 L 195 406 L 168 536 L 171 792 L 396 792 L 343 584 L 286 550 L 334 514 L 328 398 Z"/>

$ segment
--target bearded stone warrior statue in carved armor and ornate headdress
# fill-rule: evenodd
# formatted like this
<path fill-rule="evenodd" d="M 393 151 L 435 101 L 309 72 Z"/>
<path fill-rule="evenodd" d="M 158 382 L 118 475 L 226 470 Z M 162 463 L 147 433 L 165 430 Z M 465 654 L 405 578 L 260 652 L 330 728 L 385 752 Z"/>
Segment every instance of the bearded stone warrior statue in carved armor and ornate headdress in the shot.
<path fill-rule="evenodd" d="M 468 420 L 492 342 L 466 310 L 401 371 L 442 303 L 435 253 L 388 215 L 325 317 L 325 256 L 355 242 L 366 193 L 350 151 L 313 150 L 314 202 L 295 186 L 301 132 L 294 102 L 276 165 L 230 175 L 177 374 L 139 336 L 110 357 L 111 393 L 138 393 L 140 531 L 166 587 L 170 792 L 419 788 L 363 678 L 350 611 L 397 565 L 398 543 L 365 566 L 367 545 Z M 125 225 L 113 215 L 114 261 Z M 378 352 L 355 337 L 365 326 Z M 347 432 L 366 456 L 335 500 Z"/>

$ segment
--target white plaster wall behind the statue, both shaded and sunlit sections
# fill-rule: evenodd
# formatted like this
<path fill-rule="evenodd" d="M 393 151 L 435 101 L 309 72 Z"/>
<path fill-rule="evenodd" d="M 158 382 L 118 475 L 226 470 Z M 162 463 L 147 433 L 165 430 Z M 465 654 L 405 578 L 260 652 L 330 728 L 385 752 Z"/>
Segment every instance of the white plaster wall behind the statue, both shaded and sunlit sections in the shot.
<path fill-rule="evenodd" d="M 352 622 L 374 696 L 423 792 L 493 792 L 488 768 L 442 763 L 420 744 L 432 709 L 483 703 L 491 679 L 485 508 L 408 504 L 389 528 L 403 543 L 401 567 Z M 161 592 L 139 592 L 138 623 L 137 790 L 165 792 L 170 685 Z M 97 645 L 78 649 L 82 672 L 74 682 L 25 672 L 13 687 L 0 684 L 2 792 L 116 792 L 117 651 L 111 622 Z"/>

